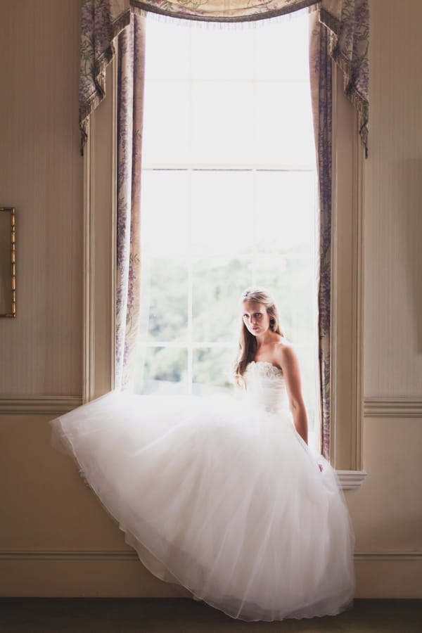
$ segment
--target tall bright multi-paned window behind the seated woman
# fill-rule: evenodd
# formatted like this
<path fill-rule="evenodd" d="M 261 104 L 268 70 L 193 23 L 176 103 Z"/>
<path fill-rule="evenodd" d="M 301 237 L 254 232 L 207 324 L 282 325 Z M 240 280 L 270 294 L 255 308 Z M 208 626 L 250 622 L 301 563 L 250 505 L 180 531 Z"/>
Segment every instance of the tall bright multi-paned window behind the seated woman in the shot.
<path fill-rule="evenodd" d="M 148 20 L 136 383 L 141 392 L 162 381 L 172 392 L 228 387 L 237 300 L 265 286 L 300 357 L 315 431 L 307 38 L 307 13 L 240 29 Z"/>

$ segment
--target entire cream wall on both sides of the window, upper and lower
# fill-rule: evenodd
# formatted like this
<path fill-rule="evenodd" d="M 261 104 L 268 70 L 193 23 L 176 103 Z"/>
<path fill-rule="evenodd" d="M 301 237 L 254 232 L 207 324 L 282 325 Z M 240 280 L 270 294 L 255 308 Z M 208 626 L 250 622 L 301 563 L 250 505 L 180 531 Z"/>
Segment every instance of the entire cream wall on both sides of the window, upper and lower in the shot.
<path fill-rule="evenodd" d="M 0 205 L 18 210 L 18 317 L 0 320 L 0 592 L 177 595 L 143 570 L 72 461 L 51 449 L 49 419 L 82 392 L 79 0 L 15 0 L 2 12 Z M 422 597 L 421 21 L 418 0 L 371 1 L 368 475 L 346 492 L 358 596 Z"/>

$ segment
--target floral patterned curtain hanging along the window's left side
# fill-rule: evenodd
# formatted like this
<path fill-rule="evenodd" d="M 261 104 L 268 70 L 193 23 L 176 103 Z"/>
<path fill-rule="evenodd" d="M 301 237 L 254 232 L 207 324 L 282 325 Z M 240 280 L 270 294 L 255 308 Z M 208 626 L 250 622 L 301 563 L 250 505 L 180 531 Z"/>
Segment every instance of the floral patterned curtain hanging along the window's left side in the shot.
<path fill-rule="evenodd" d="M 132 20 L 117 39 L 117 288 L 115 387 L 127 388 L 139 326 L 141 277 L 141 146 L 144 18 Z"/>

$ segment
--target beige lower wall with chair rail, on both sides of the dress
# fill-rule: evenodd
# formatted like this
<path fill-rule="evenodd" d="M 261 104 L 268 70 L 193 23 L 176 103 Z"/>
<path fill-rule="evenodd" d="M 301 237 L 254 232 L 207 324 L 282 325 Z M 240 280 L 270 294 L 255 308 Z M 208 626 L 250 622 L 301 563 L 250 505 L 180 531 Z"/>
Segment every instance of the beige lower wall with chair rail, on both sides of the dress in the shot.
<path fill-rule="evenodd" d="M 51 446 L 49 420 L 80 402 L 0 399 L 0 494 L 8 500 L 0 594 L 186 595 L 143 568 L 72 459 Z M 366 399 L 365 470 L 340 473 L 357 536 L 357 597 L 422 598 L 419 407 L 415 399 Z"/>

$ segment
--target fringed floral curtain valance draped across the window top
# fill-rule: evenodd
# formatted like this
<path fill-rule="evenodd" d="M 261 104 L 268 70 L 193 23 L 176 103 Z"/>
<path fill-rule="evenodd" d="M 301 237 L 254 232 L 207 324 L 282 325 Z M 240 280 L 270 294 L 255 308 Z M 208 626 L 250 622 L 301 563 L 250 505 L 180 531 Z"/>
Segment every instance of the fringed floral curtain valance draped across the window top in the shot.
<path fill-rule="evenodd" d="M 204 22 L 245 22 L 316 8 L 330 33 L 330 53 L 343 70 L 345 92 L 359 112 L 362 141 L 368 138 L 369 0 L 82 0 L 79 124 L 82 147 L 89 114 L 106 94 L 105 70 L 115 37 L 131 12 L 161 13 Z"/>

